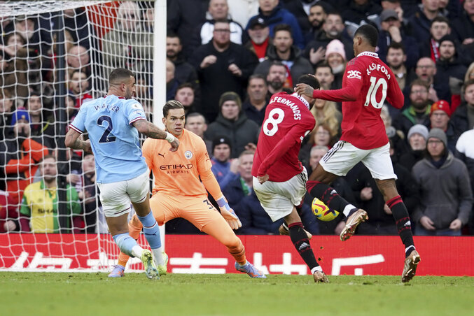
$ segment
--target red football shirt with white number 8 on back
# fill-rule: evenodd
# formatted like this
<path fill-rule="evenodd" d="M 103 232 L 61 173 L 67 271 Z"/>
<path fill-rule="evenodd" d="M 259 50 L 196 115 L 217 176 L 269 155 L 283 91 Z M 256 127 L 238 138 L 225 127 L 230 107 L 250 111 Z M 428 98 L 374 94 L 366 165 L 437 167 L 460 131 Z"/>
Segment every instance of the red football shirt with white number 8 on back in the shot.
<path fill-rule="evenodd" d="M 268 174 L 270 181 L 284 182 L 303 170 L 298 160 L 303 137 L 316 121 L 309 103 L 298 94 L 273 94 L 265 110 L 265 120 L 253 157 L 252 175 Z"/>

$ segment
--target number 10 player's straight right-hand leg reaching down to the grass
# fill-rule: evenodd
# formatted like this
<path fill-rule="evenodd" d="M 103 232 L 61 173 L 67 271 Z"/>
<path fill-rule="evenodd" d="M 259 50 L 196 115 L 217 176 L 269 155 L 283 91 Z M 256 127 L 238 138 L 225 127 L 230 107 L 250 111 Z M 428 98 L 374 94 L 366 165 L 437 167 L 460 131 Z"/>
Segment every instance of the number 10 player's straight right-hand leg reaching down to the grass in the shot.
<path fill-rule="evenodd" d="M 369 169 L 372 177 L 377 183 L 379 191 L 384 196 L 384 201 L 389 206 L 396 222 L 398 235 L 405 245 L 405 265 L 402 273 L 402 282 L 408 282 L 414 277 L 420 257 L 414 248 L 410 215 L 408 215 L 405 203 L 396 189 L 396 174 L 389 152 L 390 145 L 387 143 L 381 148 L 372 150 L 362 162 Z"/>

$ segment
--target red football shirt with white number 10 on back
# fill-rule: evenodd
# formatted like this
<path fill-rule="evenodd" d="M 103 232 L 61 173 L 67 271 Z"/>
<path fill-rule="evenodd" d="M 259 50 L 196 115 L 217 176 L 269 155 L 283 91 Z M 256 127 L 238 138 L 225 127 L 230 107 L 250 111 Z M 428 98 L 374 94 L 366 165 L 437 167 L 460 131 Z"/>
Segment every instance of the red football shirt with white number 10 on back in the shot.
<path fill-rule="evenodd" d="M 384 101 L 402 108 L 403 93 L 398 82 L 375 52 L 361 52 L 346 66 L 342 89 L 314 90 L 313 97 L 342 101 L 342 141 L 363 150 L 389 143 L 380 108 Z"/>

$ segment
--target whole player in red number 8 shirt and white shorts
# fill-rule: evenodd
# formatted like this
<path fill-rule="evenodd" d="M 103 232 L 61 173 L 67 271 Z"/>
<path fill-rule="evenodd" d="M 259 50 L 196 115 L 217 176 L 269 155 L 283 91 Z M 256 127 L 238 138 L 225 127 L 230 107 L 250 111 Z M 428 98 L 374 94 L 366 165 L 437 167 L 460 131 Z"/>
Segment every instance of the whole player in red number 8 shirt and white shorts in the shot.
<path fill-rule="evenodd" d="M 298 78 L 319 89 L 318 80 L 311 75 Z M 312 96 L 279 92 L 273 94 L 265 110 L 255 156 L 253 157 L 253 190 L 272 221 L 284 218 L 291 241 L 305 261 L 314 282 L 328 282 L 314 257 L 309 235 L 303 229 L 299 206 L 305 195 L 307 171 L 298 160 L 303 137 L 314 128 L 316 121 L 309 109 Z"/>

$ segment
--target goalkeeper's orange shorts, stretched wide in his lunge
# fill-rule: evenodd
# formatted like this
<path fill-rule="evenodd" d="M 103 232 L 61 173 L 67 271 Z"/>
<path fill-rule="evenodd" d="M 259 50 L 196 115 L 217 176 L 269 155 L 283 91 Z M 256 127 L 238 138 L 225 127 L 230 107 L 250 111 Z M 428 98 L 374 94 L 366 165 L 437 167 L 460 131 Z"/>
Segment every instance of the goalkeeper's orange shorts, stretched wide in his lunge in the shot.
<path fill-rule="evenodd" d="M 206 195 L 172 196 L 157 192 L 151 197 L 150 206 L 159 225 L 177 217 L 188 220 L 200 231 L 202 227 L 212 222 L 228 225 Z"/>

